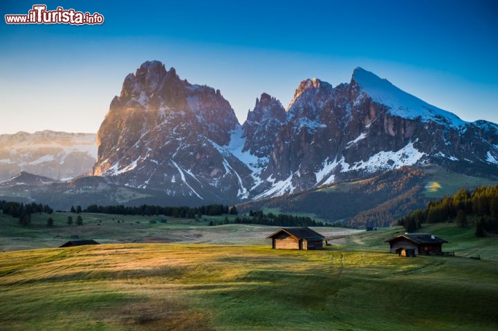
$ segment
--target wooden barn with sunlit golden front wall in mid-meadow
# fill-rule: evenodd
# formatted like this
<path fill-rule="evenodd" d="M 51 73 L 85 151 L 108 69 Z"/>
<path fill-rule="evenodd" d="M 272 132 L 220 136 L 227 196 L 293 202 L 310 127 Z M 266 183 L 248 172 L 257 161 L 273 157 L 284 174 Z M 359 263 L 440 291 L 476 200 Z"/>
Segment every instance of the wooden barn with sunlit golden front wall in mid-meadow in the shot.
<path fill-rule="evenodd" d="M 325 237 L 308 227 L 284 227 L 266 238 L 273 249 L 322 249 Z"/>

